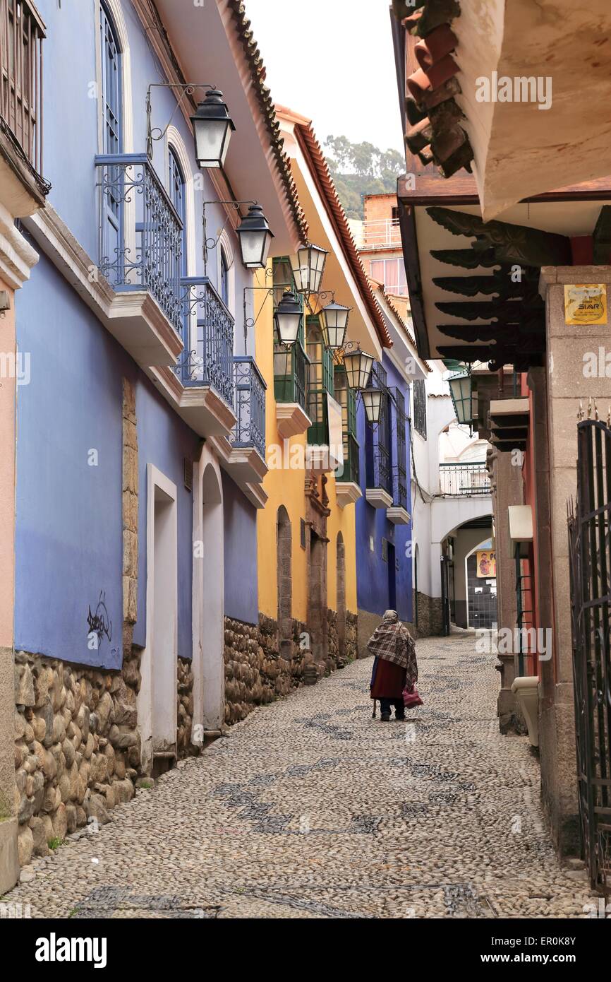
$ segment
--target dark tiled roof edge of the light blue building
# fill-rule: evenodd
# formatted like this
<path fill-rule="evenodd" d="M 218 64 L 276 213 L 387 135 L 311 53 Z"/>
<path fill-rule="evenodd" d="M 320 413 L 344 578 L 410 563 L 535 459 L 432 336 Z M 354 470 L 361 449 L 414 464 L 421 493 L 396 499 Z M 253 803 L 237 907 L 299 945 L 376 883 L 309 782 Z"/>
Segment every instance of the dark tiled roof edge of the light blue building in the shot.
<path fill-rule="evenodd" d="M 295 224 L 303 242 L 308 238 L 308 223 L 299 204 L 299 197 L 295 182 L 290 171 L 290 160 L 284 152 L 284 141 L 280 136 L 280 123 L 276 118 L 274 100 L 270 89 L 265 84 L 266 69 L 263 64 L 261 52 L 250 29 L 250 21 L 246 17 L 244 4 L 241 0 L 229 0 L 229 8 L 233 17 L 235 30 L 240 39 L 246 61 L 250 68 L 250 78 L 257 95 L 257 101 L 261 107 L 261 112 L 265 119 L 272 152 L 276 159 L 280 180 L 286 192 L 286 200 L 292 213 Z"/>

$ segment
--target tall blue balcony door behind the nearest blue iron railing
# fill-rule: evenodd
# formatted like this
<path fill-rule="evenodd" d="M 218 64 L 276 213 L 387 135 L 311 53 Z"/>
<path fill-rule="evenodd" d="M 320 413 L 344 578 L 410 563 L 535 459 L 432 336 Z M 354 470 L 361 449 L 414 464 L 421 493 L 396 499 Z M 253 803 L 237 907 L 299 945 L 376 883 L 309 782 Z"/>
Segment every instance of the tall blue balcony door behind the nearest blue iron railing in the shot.
<path fill-rule="evenodd" d="M 121 153 L 123 149 L 121 49 L 117 31 L 104 4 L 100 5 L 100 63 L 102 111 L 102 153 Z M 102 171 L 102 242 L 101 259 L 104 271 L 114 285 L 125 282 L 122 250 L 123 182 L 120 167 L 105 167 Z"/>

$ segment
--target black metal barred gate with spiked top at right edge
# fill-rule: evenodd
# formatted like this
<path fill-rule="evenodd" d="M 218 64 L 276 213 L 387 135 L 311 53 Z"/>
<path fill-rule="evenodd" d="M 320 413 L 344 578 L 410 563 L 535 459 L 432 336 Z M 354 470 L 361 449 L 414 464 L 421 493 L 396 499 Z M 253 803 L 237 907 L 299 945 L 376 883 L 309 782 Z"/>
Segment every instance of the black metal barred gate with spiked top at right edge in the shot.
<path fill-rule="evenodd" d="M 582 847 L 592 887 L 611 888 L 611 429 L 578 424 L 569 506 L 573 680 Z"/>

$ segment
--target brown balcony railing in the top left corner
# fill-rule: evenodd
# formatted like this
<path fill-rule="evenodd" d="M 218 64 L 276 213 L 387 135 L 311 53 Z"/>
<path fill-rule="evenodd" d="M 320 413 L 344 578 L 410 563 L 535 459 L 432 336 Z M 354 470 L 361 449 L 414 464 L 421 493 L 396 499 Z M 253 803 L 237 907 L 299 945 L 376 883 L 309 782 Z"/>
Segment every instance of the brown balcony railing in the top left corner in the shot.
<path fill-rule="evenodd" d="M 0 0 L 0 116 L 42 173 L 42 39 L 29 0 Z"/>

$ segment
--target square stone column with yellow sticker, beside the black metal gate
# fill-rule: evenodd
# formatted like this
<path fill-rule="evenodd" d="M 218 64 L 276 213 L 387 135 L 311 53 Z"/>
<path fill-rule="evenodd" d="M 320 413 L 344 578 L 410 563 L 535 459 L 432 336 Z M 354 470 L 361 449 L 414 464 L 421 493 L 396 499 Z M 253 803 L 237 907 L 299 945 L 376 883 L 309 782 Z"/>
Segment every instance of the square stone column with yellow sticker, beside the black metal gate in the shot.
<path fill-rule="evenodd" d="M 541 665 L 539 747 L 541 795 L 555 845 L 562 854 L 579 850 L 575 717 L 569 586 L 567 500 L 577 492 L 577 421 L 580 399 L 600 407 L 611 403 L 611 377 L 605 352 L 611 351 L 610 328 L 567 325 L 565 284 L 605 283 L 611 296 L 608 266 L 559 266 L 541 269 L 539 289 L 546 303 L 547 440 L 549 446 L 549 528 L 551 538 L 550 606 L 553 608 L 553 660 Z M 605 347 L 606 346 L 606 347 Z M 609 359 L 611 361 L 611 358 Z M 536 391 L 536 390 L 535 390 Z M 540 394 L 540 393 L 539 393 Z M 544 407 L 537 409 L 539 446 L 544 442 Z M 537 465 L 541 462 L 537 461 Z M 537 529 L 547 527 L 544 498 L 537 500 Z M 545 563 L 540 556 L 541 569 Z M 543 574 L 543 592 L 545 577 Z"/>

